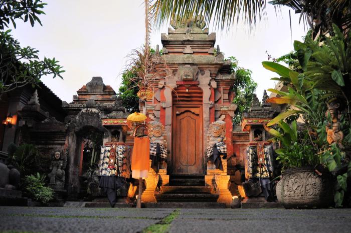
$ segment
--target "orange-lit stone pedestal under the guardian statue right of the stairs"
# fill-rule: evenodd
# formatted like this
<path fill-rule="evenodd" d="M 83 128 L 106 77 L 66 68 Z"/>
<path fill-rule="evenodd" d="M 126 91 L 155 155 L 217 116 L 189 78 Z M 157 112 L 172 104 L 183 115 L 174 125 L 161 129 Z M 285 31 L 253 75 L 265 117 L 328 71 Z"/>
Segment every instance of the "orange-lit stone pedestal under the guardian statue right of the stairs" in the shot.
<path fill-rule="evenodd" d="M 232 202 L 232 194 L 228 189 L 230 175 L 227 175 L 227 160 L 223 159 L 223 156 L 221 156 L 221 159 L 223 170 L 208 168 L 205 183 L 212 186 L 220 194 L 217 202 L 225 202 L 229 206 Z"/>

